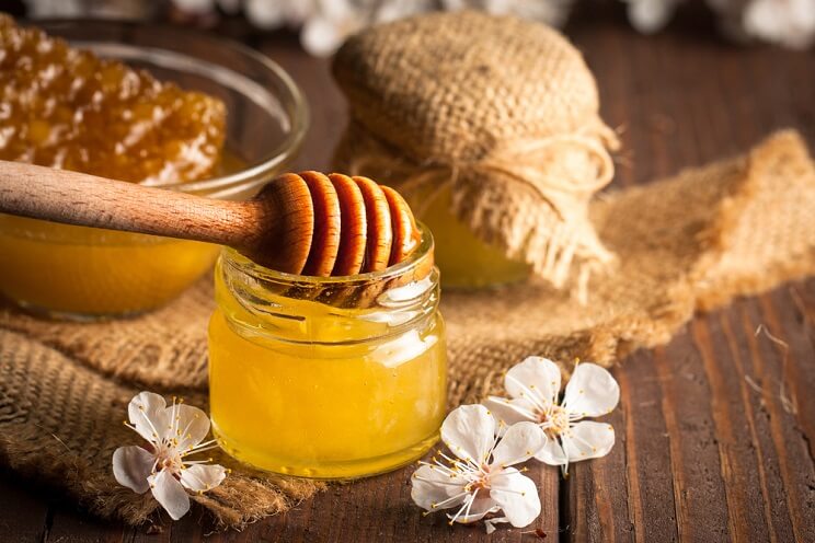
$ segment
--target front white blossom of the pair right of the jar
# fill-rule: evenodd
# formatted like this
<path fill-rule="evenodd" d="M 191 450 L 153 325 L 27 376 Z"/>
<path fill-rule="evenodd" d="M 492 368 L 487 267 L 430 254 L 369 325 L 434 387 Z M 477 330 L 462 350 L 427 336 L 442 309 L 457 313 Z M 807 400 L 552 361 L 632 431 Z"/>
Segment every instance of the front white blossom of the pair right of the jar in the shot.
<path fill-rule="evenodd" d="M 520 423 L 503 439 L 495 436 L 495 419 L 483 405 L 454 409 L 441 425 L 441 440 L 452 451 L 446 462 L 421 462 L 412 477 L 411 497 L 428 512 L 457 508 L 448 515 L 452 522 L 473 522 L 501 510 L 504 517 L 485 521 L 487 532 L 494 523 L 525 527 L 540 515 L 540 498 L 532 480 L 514 464 L 530 459 L 546 439 L 538 426 Z"/>

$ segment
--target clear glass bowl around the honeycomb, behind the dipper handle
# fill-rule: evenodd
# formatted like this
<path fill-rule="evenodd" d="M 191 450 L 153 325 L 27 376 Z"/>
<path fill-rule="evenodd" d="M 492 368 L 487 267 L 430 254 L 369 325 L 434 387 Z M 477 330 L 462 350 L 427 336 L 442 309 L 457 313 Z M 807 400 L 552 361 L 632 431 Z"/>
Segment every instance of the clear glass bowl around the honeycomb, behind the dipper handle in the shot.
<path fill-rule="evenodd" d="M 108 21 L 48 21 L 37 26 L 73 47 L 223 101 L 227 136 L 220 175 L 162 188 L 246 199 L 284 171 L 300 149 L 309 120 L 303 95 L 260 53 L 176 27 Z M 211 268 L 218 250 L 0 215 L 0 292 L 50 317 L 134 315 L 180 294 Z"/>

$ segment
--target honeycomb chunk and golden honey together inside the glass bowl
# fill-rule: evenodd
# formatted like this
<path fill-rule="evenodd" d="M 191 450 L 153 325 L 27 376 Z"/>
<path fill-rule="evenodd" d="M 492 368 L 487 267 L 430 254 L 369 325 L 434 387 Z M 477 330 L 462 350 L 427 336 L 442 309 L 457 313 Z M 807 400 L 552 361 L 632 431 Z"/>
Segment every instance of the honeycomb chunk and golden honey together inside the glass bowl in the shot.
<path fill-rule="evenodd" d="M 209 178 L 226 107 L 0 15 L 0 159 L 146 185 Z M 234 171 L 234 170 L 231 170 Z M 2 294 L 56 316 L 157 308 L 202 276 L 213 245 L 0 216 Z"/>

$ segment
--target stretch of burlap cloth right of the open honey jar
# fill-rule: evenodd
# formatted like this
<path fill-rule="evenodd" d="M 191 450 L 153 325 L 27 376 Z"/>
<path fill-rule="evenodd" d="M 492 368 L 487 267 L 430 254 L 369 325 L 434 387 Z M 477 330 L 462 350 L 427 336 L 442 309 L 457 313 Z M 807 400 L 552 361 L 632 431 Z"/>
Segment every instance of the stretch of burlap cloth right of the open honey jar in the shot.
<path fill-rule="evenodd" d="M 659 211 L 646 209 L 648 205 L 643 206 L 642 217 L 633 217 L 631 203 L 656 205 L 663 195 L 674 198 L 663 205 L 692 208 L 693 203 L 682 198 L 692 196 L 695 184 L 710 190 L 710 209 L 703 213 L 680 209 L 675 223 L 661 224 L 661 219 L 671 218 L 662 218 Z M 621 268 L 593 278 L 585 308 L 563 292 L 533 284 L 445 294 L 443 312 L 454 354 L 452 404 L 501 392 L 503 372 L 528 355 L 558 360 L 565 377 L 575 358 L 609 367 L 638 348 L 667 343 L 696 311 L 815 274 L 812 209 L 815 169 L 800 135 L 791 130 L 767 138 L 747 155 L 605 195 L 593 204 L 593 220 L 604 242 L 620 255 Z M 631 234 L 635 240 L 625 239 L 624 227 L 638 223 L 642 230 Z M 618 239 L 609 227 L 622 230 Z M 643 277 L 628 276 L 638 259 L 659 256 L 650 257 L 647 243 L 642 243 L 645 250 L 634 252 L 627 245 L 657 238 L 658 230 L 665 231 L 667 240 L 681 240 L 671 251 L 681 249 L 686 254 L 657 264 Z M 726 265 L 728 259 L 736 265 Z M 627 285 L 651 276 L 658 280 Z M 494 307 L 500 309 L 492 311 Z M 520 316 L 513 320 L 513 312 Z M 556 321 L 566 322 L 565 331 L 551 324 Z M 496 322 L 512 333 L 502 335 Z"/>

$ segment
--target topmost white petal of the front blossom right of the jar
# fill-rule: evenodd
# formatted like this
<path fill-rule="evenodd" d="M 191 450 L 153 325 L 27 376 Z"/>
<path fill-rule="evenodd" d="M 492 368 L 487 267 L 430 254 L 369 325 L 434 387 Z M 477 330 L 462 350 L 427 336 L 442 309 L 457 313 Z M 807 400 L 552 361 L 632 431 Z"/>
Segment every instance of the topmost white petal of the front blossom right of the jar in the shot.
<path fill-rule="evenodd" d="M 486 461 L 495 442 L 495 419 L 483 405 L 462 405 L 441 424 L 441 440 L 460 459 Z"/>

